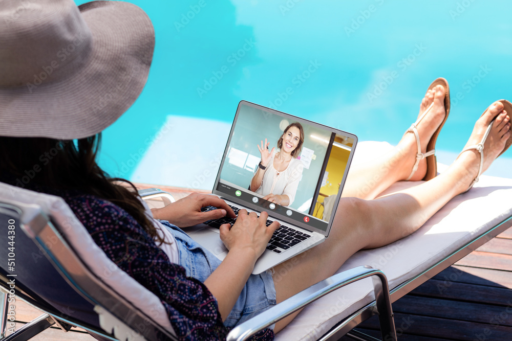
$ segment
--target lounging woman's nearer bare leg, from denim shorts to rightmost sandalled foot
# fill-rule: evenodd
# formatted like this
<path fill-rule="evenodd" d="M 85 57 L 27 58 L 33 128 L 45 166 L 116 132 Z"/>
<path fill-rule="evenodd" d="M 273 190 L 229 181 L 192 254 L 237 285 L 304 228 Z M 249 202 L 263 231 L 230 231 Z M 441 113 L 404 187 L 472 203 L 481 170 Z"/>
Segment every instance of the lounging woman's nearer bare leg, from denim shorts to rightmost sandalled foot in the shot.
<path fill-rule="evenodd" d="M 510 118 L 503 104 L 493 103 L 477 121 L 467 145 L 481 141 L 496 117 L 484 147 L 487 169 L 510 136 Z M 443 173 L 418 186 L 375 200 L 342 198 L 329 238 L 322 244 L 274 267 L 277 300 L 281 302 L 332 274 L 355 252 L 379 247 L 407 236 L 425 223 L 454 196 L 463 193 L 478 173 L 476 150 L 462 153 Z M 276 324 L 281 330 L 295 316 Z"/>

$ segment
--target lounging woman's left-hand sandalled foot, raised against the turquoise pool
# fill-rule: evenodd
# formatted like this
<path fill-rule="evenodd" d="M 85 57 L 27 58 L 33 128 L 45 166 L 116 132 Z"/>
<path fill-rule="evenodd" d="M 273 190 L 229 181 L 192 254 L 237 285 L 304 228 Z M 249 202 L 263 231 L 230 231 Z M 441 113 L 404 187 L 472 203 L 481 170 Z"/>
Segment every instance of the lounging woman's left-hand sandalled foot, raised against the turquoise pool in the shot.
<path fill-rule="evenodd" d="M 436 85 L 426 92 L 425 97 L 421 101 L 418 118 L 432 105 L 429 112 L 416 125 L 422 154 L 428 152 L 426 150 L 427 145 L 446 116 L 444 108 L 445 93 L 446 89 L 444 86 Z M 411 129 L 403 135 L 398 143 L 398 147 L 404 153 L 404 164 L 403 167 L 399 168 L 401 171 L 400 178 L 402 180 L 409 178 L 411 181 L 423 179 L 427 171 L 425 158 L 419 161 L 417 170 L 411 176 L 411 171 L 413 171 L 414 164 L 416 163 L 416 154 L 418 153 L 416 136 Z"/>

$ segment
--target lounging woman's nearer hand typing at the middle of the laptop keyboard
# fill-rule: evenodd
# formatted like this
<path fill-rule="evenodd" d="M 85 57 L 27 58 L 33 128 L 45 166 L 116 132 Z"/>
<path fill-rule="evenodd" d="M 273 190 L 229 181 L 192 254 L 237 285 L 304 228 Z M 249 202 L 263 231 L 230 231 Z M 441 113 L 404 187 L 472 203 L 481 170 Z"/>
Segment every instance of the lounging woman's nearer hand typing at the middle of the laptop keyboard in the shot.
<path fill-rule="evenodd" d="M 255 212 L 247 214 L 246 210 L 240 210 L 237 221 L 231 226 L 220 226 L 221 240 L 229 251 L 233 249 L 251 253 L 254 262 L 263 254 L 268 241 L 275 230 L 279 228 L 279 222 L 274 221 L 266 225 L 268 213 L 262 212 L 260 217 Z"/>

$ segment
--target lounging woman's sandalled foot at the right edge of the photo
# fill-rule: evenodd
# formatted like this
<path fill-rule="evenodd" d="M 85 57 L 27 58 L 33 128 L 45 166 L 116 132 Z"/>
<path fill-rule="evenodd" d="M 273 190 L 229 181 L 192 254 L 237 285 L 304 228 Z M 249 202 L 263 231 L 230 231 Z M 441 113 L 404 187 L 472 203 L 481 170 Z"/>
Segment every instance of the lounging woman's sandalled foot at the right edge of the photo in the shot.
<path fill-rule="evenodd" d="M 511 134 L 509 115 L 510 113 L 504 110 L 503 103 L 497 101 L 491 104 L 477 120 L 470 139 L 455 161 L 461 164 L 462 169 L 466 173 L 461 178 L 461 193 L 470 189 L 474 182 L 476 182 L 474 180 L 489 168 L 493 161 L 503 152 Z M 477 146 L 484 139 L 491 122 L 493 123 L 480 151 L 483 153 L 482 157 Z"/>

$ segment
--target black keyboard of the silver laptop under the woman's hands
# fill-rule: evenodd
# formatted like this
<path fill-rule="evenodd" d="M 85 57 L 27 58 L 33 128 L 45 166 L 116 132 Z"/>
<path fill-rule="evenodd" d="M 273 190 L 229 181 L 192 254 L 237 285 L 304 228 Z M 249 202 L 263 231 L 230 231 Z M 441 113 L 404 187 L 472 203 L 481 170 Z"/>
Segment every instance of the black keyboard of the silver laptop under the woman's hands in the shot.
<path fill-rule="evenodd" d="M 234 214 L 238 216 L 238 211 L 240 211 L 240 209 L 238 207 L 231 205 L 229 205 L 229 207 L 233 210 Z M 202 212 L 211 210 L 217 210 L 217 208 L 213 206 L 207 206 L 201 209 Z M 234 218 L 222 217 L 215 220 L 208 220 L 205 222 L 205 224 L 211 226 L 212 228 L 219 229 L 220 226 L 225 223 L 229 223 L 231 224 L 231 226 L 233 226 L 235 221 L 236 219 Z M 267 220 L 267 226 L 270 225 L 272 222 L 272 220 Z M 290 228 L 289 226 L 281 225 L 280 228 L 275 230 L 274 234 L 272 235 L 272 238 L 270 239 L 267 245 L 267 249 L 275 252 L 276 254 L 280 254 L 289 249 L 290 247 L 305 241 L 309 237 L 311 237 L 311 235 L 308 235 L 301 231 L 297 231 L 293 228 Z"/>

